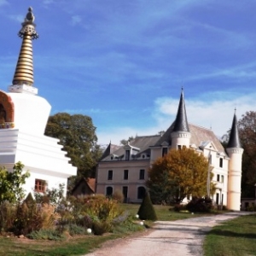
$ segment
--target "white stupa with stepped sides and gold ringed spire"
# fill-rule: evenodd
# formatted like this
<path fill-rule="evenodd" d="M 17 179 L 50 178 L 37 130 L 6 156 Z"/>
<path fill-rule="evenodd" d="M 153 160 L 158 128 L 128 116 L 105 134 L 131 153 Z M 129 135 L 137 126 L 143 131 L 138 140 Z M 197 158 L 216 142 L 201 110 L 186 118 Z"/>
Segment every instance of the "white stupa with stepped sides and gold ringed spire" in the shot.
<path fill-rule="evenodd" d="M 51 106 L 33 86 L 32 39 L 38 38 L 33 21 L 29 8 L 19 32 L 22 44 L 13 84 L 9 92 L 0 90 L 0 166 L 11 172 L 16 162 L 25 165 L 31 174 L 24 186 L 26 194 L 61 183 L 67 189 L 67 177 L 77 174 L 59 140 L 44 136 Z"/>

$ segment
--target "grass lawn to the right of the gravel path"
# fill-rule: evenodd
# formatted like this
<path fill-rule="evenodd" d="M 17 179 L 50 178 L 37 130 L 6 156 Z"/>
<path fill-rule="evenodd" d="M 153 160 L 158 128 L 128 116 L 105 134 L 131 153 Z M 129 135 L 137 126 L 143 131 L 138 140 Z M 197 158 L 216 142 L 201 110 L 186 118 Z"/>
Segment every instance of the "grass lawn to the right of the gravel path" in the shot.
<path fill-rule="evenodd" d="M 215 226 L 204 242 L 205 256 L 256 255 L 256 214 Z"/>

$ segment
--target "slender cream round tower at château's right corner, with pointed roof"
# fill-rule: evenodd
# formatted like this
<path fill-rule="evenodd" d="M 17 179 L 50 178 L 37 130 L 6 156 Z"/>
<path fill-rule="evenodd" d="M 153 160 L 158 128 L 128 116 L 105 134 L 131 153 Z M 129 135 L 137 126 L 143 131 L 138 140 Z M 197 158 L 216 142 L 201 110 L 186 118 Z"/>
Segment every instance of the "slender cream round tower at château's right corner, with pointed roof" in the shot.
<path fill-rule="evenodd" d="M 229 181 L 228 181 L 228 204 L 230 210 L 240 211 L 241 204 L 241 157 L 243 149 L 237 128 L 236 110 L 230 131 L 230 140 L 226 148 L 230 157 Z"/>

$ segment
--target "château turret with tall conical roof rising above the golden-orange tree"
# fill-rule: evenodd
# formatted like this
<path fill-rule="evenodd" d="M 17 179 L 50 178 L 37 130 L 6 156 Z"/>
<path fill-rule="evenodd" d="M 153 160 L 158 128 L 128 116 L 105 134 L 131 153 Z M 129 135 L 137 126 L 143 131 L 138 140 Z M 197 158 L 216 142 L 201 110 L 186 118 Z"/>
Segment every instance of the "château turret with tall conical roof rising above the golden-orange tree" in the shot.
<path fill-rule="evenodd" d="M 172 148 L 182 148 L 183 146 L 189 148 L 190 131 L 187 119 L 183 88 L 177 108 L 177 116 L 174 123 L 174 128 L 171 134 Z"/>

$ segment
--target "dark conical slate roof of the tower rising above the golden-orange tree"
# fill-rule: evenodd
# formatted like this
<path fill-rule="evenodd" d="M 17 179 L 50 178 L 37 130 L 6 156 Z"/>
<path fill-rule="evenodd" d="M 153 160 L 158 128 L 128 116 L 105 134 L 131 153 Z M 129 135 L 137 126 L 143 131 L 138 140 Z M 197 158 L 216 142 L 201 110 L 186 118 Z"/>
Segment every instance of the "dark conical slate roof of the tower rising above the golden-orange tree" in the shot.
<path fill-rule="evenodd" d="M 188 131 L 189 132 L 189 124 L 187 119 L 185 101 L 183 96 L 183 89 L 181 92 L 178 108 L 177 108 L 177 116 L 175 119 L 175 124 L 173 131 Z"/>

